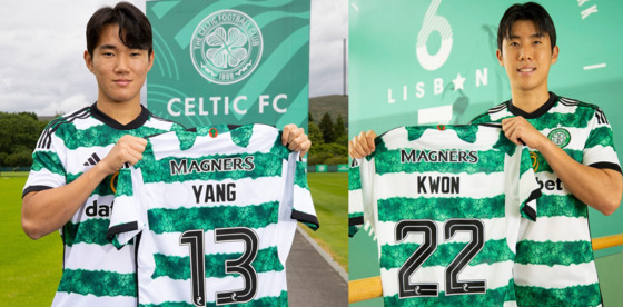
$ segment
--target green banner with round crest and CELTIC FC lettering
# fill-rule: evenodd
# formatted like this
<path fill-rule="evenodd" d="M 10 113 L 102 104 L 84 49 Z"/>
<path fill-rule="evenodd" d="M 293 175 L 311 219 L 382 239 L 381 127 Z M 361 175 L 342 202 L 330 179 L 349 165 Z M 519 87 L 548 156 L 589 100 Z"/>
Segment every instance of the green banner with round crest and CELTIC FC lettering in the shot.
<path fill-rule="evenodd" d="M 148 1 L 149 109 L 188 128 L 307 128 L 309 9 L 309 0 Z"/>

